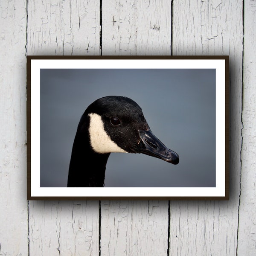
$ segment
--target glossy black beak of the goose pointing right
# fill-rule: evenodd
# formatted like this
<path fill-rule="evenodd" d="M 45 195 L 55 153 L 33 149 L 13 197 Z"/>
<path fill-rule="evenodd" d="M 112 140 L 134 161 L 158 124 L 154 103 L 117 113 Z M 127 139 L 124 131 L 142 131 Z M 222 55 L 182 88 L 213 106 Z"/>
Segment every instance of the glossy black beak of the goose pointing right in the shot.
<path fill-rule="evenodd" d="M 157 157 L 173 164 L 179 163 L 179 155 L 171 149 L 166 148 L 166 146 L 154 136 L 151 130 L 139 130 L 139 133 L 141 140 L 140 143 L 134 148 L 137 153 Z"/>

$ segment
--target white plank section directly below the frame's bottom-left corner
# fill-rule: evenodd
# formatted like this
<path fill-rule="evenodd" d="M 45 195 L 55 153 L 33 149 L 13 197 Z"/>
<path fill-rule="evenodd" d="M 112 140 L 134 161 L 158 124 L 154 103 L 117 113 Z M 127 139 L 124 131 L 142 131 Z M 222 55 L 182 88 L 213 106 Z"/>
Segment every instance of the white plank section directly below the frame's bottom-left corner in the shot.
<path fill-rule="evenodd" d="M 99 202 L 29 202 L 30 255 L 99 255 Z"/>

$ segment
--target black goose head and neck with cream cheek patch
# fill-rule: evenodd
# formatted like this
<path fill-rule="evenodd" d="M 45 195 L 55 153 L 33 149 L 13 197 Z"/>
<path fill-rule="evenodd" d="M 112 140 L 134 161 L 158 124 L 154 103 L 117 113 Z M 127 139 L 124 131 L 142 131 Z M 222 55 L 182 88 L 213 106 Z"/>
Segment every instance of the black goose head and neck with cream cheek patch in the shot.
<path fill-rule="evenodd" d="M 140 106 L 123 96 L 97 99 L 81 116 L 70 160 L 68 187 L 102 187 L 111 152 L 143 153 L 169 163 L 179 155 L 151 132 Z"/>

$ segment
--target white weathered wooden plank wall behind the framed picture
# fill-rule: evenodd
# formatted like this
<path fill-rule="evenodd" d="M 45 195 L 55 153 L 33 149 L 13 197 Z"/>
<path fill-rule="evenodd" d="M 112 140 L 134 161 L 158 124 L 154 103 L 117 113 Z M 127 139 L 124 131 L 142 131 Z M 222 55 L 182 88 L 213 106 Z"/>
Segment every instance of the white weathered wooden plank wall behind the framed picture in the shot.
<path fill-rule="evenodd" d="M 254 0 L 0 2 L 0 255 L 256 255 Z M 26 55 L 230 55 L 229 201 L 26 201 Z"/>

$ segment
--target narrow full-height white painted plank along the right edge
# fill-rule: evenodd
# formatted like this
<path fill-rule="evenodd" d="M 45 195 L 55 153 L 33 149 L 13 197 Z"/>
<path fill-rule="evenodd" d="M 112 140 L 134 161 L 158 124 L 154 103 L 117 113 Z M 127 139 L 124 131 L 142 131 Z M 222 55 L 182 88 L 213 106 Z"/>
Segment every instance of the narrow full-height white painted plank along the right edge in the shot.
<path fill-rule="evenodd" d="M 256 3 L 244 1 L 243 146 L 238 255 L 256 254 Z"/>

